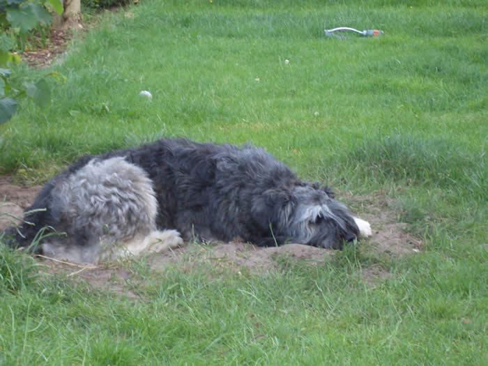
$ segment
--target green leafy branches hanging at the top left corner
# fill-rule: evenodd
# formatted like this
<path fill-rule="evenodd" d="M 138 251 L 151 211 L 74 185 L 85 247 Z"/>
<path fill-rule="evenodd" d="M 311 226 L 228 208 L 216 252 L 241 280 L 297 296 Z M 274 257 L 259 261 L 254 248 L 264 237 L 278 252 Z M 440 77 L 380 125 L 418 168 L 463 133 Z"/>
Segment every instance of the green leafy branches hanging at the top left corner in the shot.
<path fill-rule="evenodd" d="M 16 39 L 25 39 L 27 32 L 39 26 L 49 26 L 52 15 L 46 6 L 50 6 L 56 13 L 63 13 L 61 0 L 26 1 L 0 0 L 0 123 L 5 123 L 17 112 L 17 98 L 27 96 L 36 105 L 47 107 L 51 103 L 51 93 L 45 78 L 36 83 L 24 82 L 16 89 L 10 84 L 8 77 L 12 70 L 8 68 L 12 63 L 19 63 L 20 57 L 12 51 L 17 44 Z M 49 73 L 59 79 L 61 75 Z M 46 75 L 46 76 L 47 76 Z"/>

